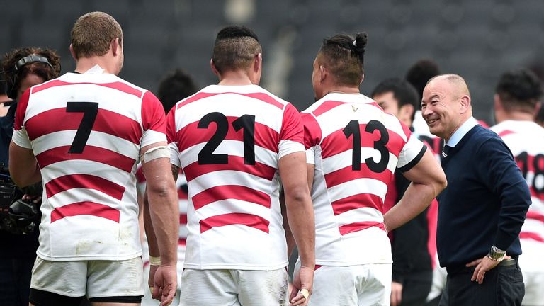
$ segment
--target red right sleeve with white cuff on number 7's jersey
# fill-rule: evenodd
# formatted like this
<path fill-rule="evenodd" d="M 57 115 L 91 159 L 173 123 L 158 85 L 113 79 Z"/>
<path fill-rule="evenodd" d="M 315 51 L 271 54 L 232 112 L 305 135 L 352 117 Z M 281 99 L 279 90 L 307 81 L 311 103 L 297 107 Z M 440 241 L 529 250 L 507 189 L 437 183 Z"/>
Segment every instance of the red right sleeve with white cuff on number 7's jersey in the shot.
<path fill-rule="evenodd" d="M 150 91 L 142 98 L 143 135 L 140 147 L 166 142 L 166 120 L 161 102 Z"/>

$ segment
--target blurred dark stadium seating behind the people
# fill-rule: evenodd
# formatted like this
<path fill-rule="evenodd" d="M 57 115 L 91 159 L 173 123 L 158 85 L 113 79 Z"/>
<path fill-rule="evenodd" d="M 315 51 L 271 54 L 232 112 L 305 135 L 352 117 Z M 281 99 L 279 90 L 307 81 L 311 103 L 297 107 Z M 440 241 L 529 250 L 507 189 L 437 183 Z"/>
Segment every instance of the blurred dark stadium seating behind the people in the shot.
<path fill-rule="evenodd" d="M 86 11 L 111 13 L 125 30 L 122 77 L 155 89 L 161 75 L 182 67 L 201 86 L 215 82 L 209 69 L 215 33 L 229 24 L 225 6 L 213 0 L 25 0 L 1 1 L 0 52 L 13 47 L 52 47 L 62 55 L 63 71 L 74 68 L 69 30 Z M 264 60 L 285 28 L 296 31 L 288 48 L 293 57 L 284 97 L 298 108 L 313 101 L 312 61 L 325 36 L 368 32 L 363 93 L 386 77 L 402 77 L 421 57 L 444 72 L 463 75 L 478 118 L 490 120 L 493 85 L 500 72 L 529 64 L 540 55 L 544 38 L 538 0 L 484 1 L 310 1 L 254 0 L 254 28 Z M 266 79 L 266 71 L 263 72 Z"/>

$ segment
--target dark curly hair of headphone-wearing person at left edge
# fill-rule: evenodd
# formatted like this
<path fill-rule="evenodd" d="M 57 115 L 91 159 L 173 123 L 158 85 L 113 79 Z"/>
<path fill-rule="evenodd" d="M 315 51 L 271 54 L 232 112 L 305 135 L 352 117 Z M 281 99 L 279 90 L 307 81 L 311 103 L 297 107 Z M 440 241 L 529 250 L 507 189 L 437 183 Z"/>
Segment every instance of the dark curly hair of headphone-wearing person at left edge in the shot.
<path fill-rule="evenodd" d="M 28 55 L 40 55 L 45 57 L 51 66 L 45 62 L 30 62 L 19 69 L 15 69 L 16 63 Z M 2 70 L 4 70 L 6 84 L 11 87 L 6 89 L 9 94 L 13 90 L 18 91 L 21 86 L 21 80 L 25 79 L 28 74 L 36 74 L 45 81 L 58 77 L 60 74 L 60 57 L 55 50 L 42 49 L 39 47 L 18 48 L 11 50 L 11 52 L 4 55 Z"/>

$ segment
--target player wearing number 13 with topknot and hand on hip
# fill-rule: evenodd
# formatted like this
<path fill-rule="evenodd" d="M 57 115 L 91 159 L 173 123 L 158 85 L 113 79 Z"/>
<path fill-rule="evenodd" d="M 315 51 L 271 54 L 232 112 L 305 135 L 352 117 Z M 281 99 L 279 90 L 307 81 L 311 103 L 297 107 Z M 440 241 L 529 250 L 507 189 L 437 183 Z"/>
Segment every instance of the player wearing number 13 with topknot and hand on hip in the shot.
<path fill-rule="evenodd" d="M 316 220 L 310 305 L 390 305 L 387 230 L 418 215 L 446 186 L 426 146 L 360 94 L 366 42 L 366 33 L 323 41 L 312 74 L 317 102 L 302 113 Z M 396 170 L 413 183 L 384 216 Z"/>

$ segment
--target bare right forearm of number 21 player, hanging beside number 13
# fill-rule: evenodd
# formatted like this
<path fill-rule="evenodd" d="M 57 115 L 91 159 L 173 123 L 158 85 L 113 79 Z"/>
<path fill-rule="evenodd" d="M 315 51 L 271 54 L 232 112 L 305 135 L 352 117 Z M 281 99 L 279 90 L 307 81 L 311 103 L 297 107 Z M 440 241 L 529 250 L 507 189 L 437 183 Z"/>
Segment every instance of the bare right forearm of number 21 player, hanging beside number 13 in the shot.
<path fill-rule="evenodd" d="M 315 221 L 310 197 L 307 200 L 285 198 L 287 216 L 302 266 L 315 266 Z"/>

